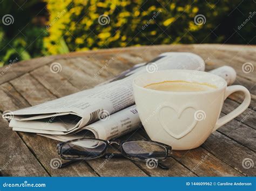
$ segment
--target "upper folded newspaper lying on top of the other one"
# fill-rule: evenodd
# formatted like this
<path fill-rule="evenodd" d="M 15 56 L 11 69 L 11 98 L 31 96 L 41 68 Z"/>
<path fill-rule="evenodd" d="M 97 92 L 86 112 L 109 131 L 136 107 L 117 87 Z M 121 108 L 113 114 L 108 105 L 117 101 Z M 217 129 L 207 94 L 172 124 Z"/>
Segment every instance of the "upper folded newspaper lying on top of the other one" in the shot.
<path fill-rule="evenodd" d="M 204 71 L 205 63 L 197 54 L 166 52 L 149 63 L 132 67 L 107 84 L 11 114 L 5 113 L 3 117 L 11 119 L 9 126 L 14 131 L 72 134 L 82 127 L 133 105 L 132 80 L 138 74 L 169 69 Z"/>

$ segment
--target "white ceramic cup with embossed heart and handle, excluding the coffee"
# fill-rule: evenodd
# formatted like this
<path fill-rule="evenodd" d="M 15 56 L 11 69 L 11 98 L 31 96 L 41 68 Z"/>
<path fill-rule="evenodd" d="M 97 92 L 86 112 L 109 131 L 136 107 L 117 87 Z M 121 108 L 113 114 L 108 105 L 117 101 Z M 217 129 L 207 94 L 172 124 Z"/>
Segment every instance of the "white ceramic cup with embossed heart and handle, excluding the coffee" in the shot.
<path fill-rule="evenodd" d="M 152 83 L 183 80 L 216 86 L 201 92 L 170 92 L 145 88 Z M 244 112 L 250 92 L 240 85 L 228 86 L 214 74 L 192 70 L 165 70 L 140 74 L 133 80 L 139 118 L 149 137 L 176 150 L 199 147 L 212 132 Z M 241 91 L 245 99 L 239 107 L 219 119 L 224 100 Z"/>

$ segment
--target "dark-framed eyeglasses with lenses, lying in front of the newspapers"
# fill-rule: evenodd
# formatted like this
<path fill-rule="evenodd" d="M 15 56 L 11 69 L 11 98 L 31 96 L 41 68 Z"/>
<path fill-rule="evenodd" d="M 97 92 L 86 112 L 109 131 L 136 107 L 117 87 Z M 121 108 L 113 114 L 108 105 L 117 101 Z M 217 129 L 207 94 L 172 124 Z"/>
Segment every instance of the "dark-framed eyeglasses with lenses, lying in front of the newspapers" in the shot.
<path fill-rule="evenodd" d="M 106 153 L 107 148 L 112 144 L 117 144 L 121 153 Z M 71 161 L 91 160 L 107 155 L 145 162 L 153 159 L 158 162 L 160 167 L 166 169 L 167 167 L 161 165 L 160 162 L 165 161 L 166 158 L 170 156 L 172 147 L 149 140 L 105 141 L 101 139 L 83 138 L 58 144 L 57 152 L 62 159 Z M 68 164 L 69 163 L 71 162 L 68 162 Z M 66 165 L 63 164 L 62 167 L 63 166 Z"/>

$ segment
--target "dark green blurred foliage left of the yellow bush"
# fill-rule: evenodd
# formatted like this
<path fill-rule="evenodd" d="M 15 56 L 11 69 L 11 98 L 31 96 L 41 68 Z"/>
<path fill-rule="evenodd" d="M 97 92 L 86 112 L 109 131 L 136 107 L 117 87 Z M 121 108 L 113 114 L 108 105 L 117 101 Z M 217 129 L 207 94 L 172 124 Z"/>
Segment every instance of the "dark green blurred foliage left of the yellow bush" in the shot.
<path fill-rule="evenodd" d="M 43 38 L 47 32 L 44 27 L 32 24 L 38 13 L 34 8 L 37 4 L 38 1 L 26 0 L 3 0 L 0 3 L 0 66 L 16 58 L 21 61 L 42 56 Z M 4 23 L 6 15 L 12 16 L 9 17 L 12 24 Z"/>

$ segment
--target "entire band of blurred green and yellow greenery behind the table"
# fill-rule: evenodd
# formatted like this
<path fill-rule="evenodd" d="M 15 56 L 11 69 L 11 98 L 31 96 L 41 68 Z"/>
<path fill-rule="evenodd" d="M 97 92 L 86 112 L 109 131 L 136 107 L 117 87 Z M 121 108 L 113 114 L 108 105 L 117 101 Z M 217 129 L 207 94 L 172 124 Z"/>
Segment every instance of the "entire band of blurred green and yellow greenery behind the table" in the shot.
<path fill-rule="evenodd" d="M 0 0 L 0 66 L 111 47 L 255 44 L 255 5 L 240 0 Z M 204 23 L 194 22 L 199 14 Z M 11 23 L 5 23 L 6 15 Z"/>

